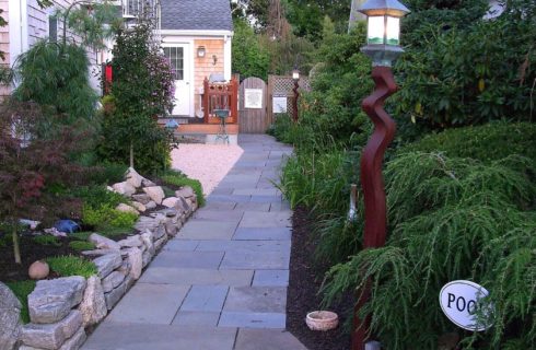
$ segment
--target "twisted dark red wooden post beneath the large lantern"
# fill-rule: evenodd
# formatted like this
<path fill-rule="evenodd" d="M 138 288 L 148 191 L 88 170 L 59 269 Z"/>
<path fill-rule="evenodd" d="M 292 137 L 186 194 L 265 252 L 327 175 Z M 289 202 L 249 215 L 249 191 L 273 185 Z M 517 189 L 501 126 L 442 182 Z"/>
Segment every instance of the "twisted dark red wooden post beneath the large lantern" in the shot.
<path fill-rule="evenodd" d="M 361 186 L 364 197 L 364 237 L 363 248 L 377 248 L 385 245 L 387 230 L 387 209 L 385 188 L 382 176 L 382 163 L 385 150 L 395 137 L 396 125 L 384 110 L 384 102 L 397 91 L 391 67 L 374 67 L 372 69 L 374 92 L 363 100 L 362 107 L 374 122 L 372 133 L 361 155 Z M 368 338 L 370 317 L 361 319 L 359 310 L 370 298 L 371 281 L 360 291 L 360 298 L 354 313 L 354 330 L 352 334 L 352 350 L 364 350 Z"/>

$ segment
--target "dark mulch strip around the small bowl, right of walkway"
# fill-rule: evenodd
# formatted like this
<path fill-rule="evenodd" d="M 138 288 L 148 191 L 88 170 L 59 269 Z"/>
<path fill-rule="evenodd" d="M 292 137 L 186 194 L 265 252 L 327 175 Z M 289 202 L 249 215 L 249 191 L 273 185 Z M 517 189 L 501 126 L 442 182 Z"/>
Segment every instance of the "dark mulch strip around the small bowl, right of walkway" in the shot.
<path fill-rule="evenodd" d="M 292 218 L 292 252 L 290 258 L 290 281 L 287 299 L 287 329 L 310 350 L 348 350 L 351 338 L 345 327 L 353 308 L 352 296 L 331 305 L 329 311 L 339 315 L 339 327 L 328 331 L 313 331 L 305 324 L 305 315 L 319 308 L 322 295 L 318 290 L 324 275 L 329 268 L 314 260 L 316 244 L 311 237 L 312 222 L 308 211 L 296 208 Z"/>

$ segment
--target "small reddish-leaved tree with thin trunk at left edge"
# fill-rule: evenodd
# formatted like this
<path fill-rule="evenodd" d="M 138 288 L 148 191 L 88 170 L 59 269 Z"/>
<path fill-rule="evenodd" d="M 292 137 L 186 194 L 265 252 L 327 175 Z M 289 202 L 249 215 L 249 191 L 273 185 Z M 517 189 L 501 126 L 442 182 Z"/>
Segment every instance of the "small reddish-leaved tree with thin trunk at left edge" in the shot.
<path fill-rule="evenodd" d="M 83 135 L 75 127 L 50 129 L 61 116 L 42 112 L 35 104 L 14 100 L 0 106 L 0 222 L 11 228 L 16 264 L 21 264 L 21 218 L 74 215 L 79 208 L 51 185 L 66 188 L 83 178 L 83 168 L 70 160 L 84 143 L 79 142 Z"/>

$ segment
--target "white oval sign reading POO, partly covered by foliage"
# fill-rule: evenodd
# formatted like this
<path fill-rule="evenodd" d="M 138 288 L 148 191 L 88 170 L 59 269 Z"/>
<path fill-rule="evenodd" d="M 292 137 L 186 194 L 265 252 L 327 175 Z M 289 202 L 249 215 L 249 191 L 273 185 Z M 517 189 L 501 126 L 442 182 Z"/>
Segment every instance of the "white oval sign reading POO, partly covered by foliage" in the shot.
<path fill-rule="evenodd" d="M 480 320 L 477 324 L 477 310 L 481 307 L 481 299 L 489 295 L 486 288 L 471 281 L 452 281 L 446 283 L 440 292 L 440 304 L 443 313 L 456 326 L 481 331 L 491 327 L 491 323 Z M 485 315 L 491 315 L 491 310 L 485 311 Z"/>

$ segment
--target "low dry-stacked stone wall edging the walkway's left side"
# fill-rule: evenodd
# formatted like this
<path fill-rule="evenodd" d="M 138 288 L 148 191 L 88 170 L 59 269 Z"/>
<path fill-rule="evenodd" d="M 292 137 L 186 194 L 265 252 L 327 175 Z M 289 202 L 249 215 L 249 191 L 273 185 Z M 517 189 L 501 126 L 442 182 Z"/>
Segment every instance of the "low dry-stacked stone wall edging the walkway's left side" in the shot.
<path fill-rule="evenodd" d="M 197 198 L 189 187 L 160 201 L 168 208 L 141 215 L 136 224 L 140 234 L 119 242 L 96 233 L 90 236 L 97 249 L 82 254 L 96 265 L 97 276 L 38 281 L 28 295 L 30 324 L 19 324 L 21 305 L 0 282 L 0 296 L 4 295 L 0 301 L 0 350 L 79 349 L 86 338 L 84 328 L 108 314 L 197 209 Z"/>

